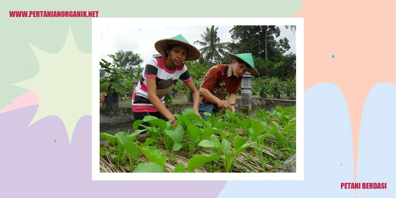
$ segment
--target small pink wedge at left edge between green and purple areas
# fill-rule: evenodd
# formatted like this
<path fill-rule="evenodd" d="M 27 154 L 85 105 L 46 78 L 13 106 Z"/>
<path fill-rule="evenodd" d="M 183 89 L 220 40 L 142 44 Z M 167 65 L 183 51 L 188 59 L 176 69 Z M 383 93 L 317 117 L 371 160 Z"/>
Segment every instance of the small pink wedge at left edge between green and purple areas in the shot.
<path fill-rule="evenodd" d="M 15 100 L 10 102 L 11 105 L 7 104 L 3 109 L 0 109 L 0 114 L 10 110 L 38 105 L 38 96 L 33 91 L 26 91 L 22 95 L 18 96 Z"/>

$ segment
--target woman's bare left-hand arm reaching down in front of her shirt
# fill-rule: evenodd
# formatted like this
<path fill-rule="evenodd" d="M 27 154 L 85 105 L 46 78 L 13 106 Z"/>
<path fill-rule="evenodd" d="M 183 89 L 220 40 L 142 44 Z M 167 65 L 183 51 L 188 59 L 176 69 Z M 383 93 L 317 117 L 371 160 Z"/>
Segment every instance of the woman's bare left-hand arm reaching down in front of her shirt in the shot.
<path fill-rule="evenodd" d="M 161 99 L 156 95 L 156 82 L 154 78 L 147 78 L 147 95 L 151 104 L 169 121 L 173 121 L 175 116 L 162 104 Z"/>

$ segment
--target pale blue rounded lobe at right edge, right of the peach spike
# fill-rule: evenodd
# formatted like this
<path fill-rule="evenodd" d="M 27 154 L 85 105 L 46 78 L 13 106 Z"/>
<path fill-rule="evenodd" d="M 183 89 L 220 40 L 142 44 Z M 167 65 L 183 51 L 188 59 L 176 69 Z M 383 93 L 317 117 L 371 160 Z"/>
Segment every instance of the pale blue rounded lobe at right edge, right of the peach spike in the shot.
<path fill-rule="evenodd" d="M 387 183 L 386 189 L 359 189 L 356 196 L 395 197 L 396 86 L 381 83 L 367 95 L 360 122 L 358 171 L 360 183 Z"/>

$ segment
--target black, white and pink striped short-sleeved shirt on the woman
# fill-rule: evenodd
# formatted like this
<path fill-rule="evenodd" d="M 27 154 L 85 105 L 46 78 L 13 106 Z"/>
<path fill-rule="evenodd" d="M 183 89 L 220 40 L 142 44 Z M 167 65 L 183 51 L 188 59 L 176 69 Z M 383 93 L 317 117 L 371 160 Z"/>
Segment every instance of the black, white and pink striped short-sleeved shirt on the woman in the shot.
<path fill-rule="evenodd" d="M 152 57 L 142 72 L 135 91 L 132 95 L 132 109 L 134 112 L 157 112 L 158 110 L 148 100 L 147 95 L 147 78 L 154 78 L 156 81 L 156 95 L 165 106 L 165 95 L 169 93 L 177 80 L 183 80 L 187 83 L 191 81 L 190 73 L 187 67 L 182 64 L 171 71 L 165 67 L 165 59 L 162 57 Z"/>

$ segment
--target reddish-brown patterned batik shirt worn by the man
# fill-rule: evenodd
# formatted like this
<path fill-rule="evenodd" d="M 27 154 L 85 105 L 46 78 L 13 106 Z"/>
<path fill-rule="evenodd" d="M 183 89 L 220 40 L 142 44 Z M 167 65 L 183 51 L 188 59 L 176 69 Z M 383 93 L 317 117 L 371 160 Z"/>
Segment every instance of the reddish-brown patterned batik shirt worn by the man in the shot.
<path fill-rule="evenodd" d="M 232 74 L 232 65 L 215 65 L 206 73 L 200 87 L 208 89 L 221 100 L 226 100 L 227 94 L 235 94 L 242 82 L 242 76 L 237 78 Z M 230 71 L 229 71 L 230 70 Z M 228 75 L 230 73 L 230 75 Z M 200 104 L 212 103 L 201 95 Z"/>

